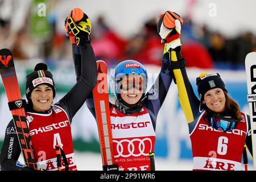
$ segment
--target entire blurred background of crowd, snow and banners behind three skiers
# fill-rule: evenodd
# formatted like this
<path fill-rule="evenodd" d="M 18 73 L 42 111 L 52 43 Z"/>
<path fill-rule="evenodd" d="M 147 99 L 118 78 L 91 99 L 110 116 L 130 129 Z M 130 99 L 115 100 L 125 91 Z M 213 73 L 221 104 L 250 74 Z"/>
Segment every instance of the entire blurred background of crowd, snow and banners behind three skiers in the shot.
<path fill-rule="evenodd" d="M 195 93 L 201 72 L 218 72 L 241 110 L 249 114 L 244 61 L 247 53 L 256 51 L 254 0 L 0 0 L 0 48 L 13 52 L 23 97 L 26 75 L 39 62 L 47 63 L 53 73 L 55 102 L 75 84 L 72 48 L 64 31 L 64 20 L 75 7 L 89 16 L 94 52 L 97 60 L 108 64 L 109 73 L 120 61 L 134 59 L 146 66 L 150 83 L 160 71 L 163 55 L 158 15 L 175 11 L 185 22 L 181 53 Z M 0 81 L 0 147 L 10 120 Z M 73 119 L 72 134 L 78 169 L 101 170 L 97 125 L 85 104 Z M 187 122 L 174 84 L 158 115 L 155 155 L 156 170 L 192 169 Z"/>

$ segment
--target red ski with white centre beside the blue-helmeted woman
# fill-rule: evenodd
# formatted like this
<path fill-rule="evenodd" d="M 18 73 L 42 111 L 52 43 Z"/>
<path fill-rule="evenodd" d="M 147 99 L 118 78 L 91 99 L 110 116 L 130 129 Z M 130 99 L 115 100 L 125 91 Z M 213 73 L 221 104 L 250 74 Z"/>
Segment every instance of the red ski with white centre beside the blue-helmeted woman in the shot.
<path fill-rule="evenodd" d="M 114 165 L 113 140 L 110 121 L 108 69 L 104 61 L 97 61 L 97 85 L 93 89 L 103 170 L 117 170 Z"/>

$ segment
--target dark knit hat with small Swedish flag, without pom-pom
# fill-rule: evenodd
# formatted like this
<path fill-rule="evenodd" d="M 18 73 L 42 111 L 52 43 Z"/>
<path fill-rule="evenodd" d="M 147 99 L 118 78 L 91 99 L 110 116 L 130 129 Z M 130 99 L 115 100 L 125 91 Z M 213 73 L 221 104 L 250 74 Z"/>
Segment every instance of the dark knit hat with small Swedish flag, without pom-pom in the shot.
<path fill-rule="evenodd" d="M 196 85 L 201 102 L 204 100 L 204 94 L 210 89 L 221 88 L 225 90 L 225 92 L 228 92 L 226 85 L 218 73 L 201 73 L 201 75 L 196 78 Z"/>

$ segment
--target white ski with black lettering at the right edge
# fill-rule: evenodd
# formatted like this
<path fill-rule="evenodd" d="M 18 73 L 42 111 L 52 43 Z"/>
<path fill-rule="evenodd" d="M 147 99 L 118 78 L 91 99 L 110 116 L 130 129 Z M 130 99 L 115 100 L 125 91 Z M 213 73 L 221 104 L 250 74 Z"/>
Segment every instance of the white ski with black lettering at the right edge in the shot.
<path fill-rule="evenodd" d="M 247 80 L 247 101 L 250 110 L 251 139 L 253 144 L 253 167 L 256 170 L 256 52 L 248 53 L 245 57 Z"/>

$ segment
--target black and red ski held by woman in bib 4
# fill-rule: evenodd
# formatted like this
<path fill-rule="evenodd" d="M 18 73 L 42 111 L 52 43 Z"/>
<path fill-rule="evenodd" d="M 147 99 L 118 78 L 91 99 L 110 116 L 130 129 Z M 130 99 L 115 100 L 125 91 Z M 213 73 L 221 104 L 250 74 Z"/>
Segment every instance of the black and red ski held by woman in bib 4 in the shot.
<path fill-rule="evenodd" d="M 13 114 L 13 121 L 24 161 L 28 167 L 36 169 L 36 159 L 33 153 L 24 110 L 26 101 L 22 100 L 20 94 L 18 79 L 14 67 L 13 54 L 9 49 L 0 50 L 0 74 L 9 101 L 9 108 L 11 110 L 11 114 Z"/>

